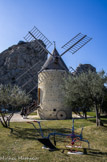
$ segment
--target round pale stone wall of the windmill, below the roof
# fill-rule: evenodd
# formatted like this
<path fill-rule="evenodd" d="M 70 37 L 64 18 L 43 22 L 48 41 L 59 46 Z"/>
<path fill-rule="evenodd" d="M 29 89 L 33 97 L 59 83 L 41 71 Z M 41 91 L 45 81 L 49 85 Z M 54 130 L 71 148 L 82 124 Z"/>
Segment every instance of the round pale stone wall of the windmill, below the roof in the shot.
<path fill-rule="evenodd" d="M 65 119 L 72 117 L 71 107 L 65 104 L 64 91 L 61 90 L 65 70 L 43 70 L 38 75 L 40 91 L 39 115 L 43 119 Z"/>

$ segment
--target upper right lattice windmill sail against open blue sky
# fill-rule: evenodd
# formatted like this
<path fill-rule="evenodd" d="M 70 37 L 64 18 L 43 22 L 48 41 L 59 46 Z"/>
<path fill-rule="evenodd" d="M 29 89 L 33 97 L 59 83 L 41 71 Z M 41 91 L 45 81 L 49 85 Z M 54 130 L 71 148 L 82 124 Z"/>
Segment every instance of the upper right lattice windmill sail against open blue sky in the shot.
<path fill-rule="evenodd" d="M 80 48 L 82 48 L 86 43 L 88 43 L 91 39 L 92 38 L 82 33 L 77 34 L 74 38 L 72 38 L 70 41 L 68 41 L 65 45 L 62 46 L 62 48 L 65 49 L 66 51 L 63 52 L 61 56 L 68 51 L 74 54 Z"/>

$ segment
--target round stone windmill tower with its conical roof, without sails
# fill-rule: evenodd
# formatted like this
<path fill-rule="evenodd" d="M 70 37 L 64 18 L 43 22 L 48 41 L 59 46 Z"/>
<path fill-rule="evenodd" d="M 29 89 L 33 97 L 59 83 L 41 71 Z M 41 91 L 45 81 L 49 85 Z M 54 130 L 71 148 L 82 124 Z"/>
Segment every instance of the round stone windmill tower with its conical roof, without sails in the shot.
<path fill-rule="evenodd" d="M 39 115 L 46 119 L 71 118 L 71 108 L 65 104 L 64 93 L 60 85 L 63 85 L 64 77 L 69 72 L 56 48 L 52 56 L 46 61 L 38 74 L 38 99 L 41 109 Z"/>

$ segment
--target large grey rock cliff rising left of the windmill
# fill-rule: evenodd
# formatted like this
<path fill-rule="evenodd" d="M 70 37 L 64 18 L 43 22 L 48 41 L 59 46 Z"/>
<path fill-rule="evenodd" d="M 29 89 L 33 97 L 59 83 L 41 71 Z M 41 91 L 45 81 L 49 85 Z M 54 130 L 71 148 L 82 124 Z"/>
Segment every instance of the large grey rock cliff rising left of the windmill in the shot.
<path fill-rule="evenodd" d="M 46 59 L 47 53 L 41 51 L 35 41 L 20 41 L 0 53 L 0 84 L 17 84 L 30 92 L 37 85 L 38 71 Z M 34 97 L 35 88 L 31 93 Z"/>

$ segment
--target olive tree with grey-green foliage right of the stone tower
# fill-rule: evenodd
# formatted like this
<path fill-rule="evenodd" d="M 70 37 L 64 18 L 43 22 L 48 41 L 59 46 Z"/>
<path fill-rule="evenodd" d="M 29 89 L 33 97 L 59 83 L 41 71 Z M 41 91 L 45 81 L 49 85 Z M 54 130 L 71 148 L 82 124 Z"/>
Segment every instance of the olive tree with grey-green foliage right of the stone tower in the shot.
<path fill-rule="evenodd" d="M 104 84 L 106 81 L 107 76 L 104 71 L 100 73 L 88 71 L 76 76 L 70 74 L 65 80 L 64 89 L 67 104 L 74 110 L 83 108 L 84 112 L 90 106 L 95 105 L 97 126 L 101 125 L 99 110 L 104 99 Z"/>

